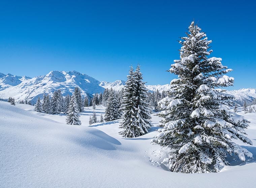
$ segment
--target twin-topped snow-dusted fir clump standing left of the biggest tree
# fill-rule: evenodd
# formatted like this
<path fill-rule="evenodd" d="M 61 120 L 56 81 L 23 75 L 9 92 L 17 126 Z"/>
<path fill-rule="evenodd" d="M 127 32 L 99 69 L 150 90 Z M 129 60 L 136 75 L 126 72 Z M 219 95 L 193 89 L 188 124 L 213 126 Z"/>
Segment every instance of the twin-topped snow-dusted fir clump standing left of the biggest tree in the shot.
<path fill-rule="evenodd" d="M 122 121 L 120 134 L 123 137 L 138 137 L 148 133 L 152 126 L 149 104 L 147 103 L 147 89 L 142 82 L 142 74 L 138 65 L 133 72 L 131 66 L 122 99 Z"/>

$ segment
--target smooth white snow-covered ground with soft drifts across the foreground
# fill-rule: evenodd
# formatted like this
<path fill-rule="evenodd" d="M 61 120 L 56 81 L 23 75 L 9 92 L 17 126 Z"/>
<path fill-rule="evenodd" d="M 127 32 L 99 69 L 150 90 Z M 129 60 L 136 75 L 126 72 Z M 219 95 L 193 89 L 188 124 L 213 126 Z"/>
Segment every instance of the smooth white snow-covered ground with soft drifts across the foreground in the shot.
<path fill-rule="evenodd" d="M 98 119 L 104 115 L 102 106 L 95 111 Z M 86 108 L 82 126 L 71 126 L 65 125 L 64 114 L 0 101 L 0 187 L 255 187 L 256 113 L 239 112 L 251 121 L 247 133 L 254 145 L 237 142 L 254 158 L 230 157 L 232 166 L 208 174 L 172 173 L 160 165 L 160 147 L 150 143 L 157 116 L 152 115 L 156 127 L 150 133 L 128 139 L 118 134 L 118 120 L 89 126 L 92 113 Z"/>

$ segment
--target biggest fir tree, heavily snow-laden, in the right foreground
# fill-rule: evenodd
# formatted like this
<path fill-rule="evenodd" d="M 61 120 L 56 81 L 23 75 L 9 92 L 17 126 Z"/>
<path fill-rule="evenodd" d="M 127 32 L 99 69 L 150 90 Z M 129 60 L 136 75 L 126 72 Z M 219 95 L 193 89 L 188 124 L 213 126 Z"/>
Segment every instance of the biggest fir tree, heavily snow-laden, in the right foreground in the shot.
<path fill-rule="evenodd" d="M 171 81 L 168 96 L 160 101 L 162 112 L 154 144 L 170 149 L 164 159 L 170 171 L 180 173 L 218 172 L 228 154 L 241 160 L 252 154 L 232 139 L 252 144 L 245 136 L 248 121 L 230 112 L 231 95 L 219 87 L 233 85 L 225 74 L 232 71 L 221 58 L 208 58 L 212 42 L 201 29 L 191 23 L 187 37 L 182 37 L 180 59 L 174 60 L 170 73 L 178 75 Z"/>

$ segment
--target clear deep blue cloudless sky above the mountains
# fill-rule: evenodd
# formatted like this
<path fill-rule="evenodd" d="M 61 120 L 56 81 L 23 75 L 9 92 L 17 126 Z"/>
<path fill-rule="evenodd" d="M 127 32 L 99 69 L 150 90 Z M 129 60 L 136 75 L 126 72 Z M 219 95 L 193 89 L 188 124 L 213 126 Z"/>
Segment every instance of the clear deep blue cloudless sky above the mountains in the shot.
<path fill-rule="evenodd" d="M 168 84 L 179 37 L 191 21 L 234 71 L 229 89 L 256 88 L 254 1 L 1 1 L 0 72 L 35 77 L 76 70 L 126 80 L 141 65 L 148 84 Z"/>

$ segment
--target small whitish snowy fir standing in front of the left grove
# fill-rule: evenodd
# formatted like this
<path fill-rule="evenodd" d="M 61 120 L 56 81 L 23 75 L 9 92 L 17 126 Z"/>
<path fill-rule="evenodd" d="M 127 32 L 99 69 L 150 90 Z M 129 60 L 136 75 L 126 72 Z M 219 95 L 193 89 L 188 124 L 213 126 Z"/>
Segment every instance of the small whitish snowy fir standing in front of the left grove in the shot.
<path fill-rule="evenodd" d="M 69 107 L 68 107 L 67 116 L 66 116 L 66 123 L 68 125 L 81 125 L 81 121 L 79 117 L 80 117 L 79 109 L 76 102 L 76 97 L 73 94 L 69 102 Z"/>

